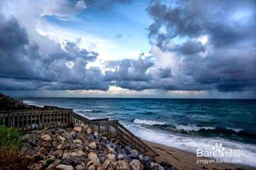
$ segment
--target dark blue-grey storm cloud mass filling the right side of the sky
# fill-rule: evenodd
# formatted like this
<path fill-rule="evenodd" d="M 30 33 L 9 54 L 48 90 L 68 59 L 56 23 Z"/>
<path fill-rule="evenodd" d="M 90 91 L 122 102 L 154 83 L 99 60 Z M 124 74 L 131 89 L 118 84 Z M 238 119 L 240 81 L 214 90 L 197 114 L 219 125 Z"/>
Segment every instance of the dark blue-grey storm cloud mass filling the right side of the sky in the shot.
<path fill-rule="evenodd" d="M 151 43 L 180 60 L 173 81 L 154 88 L 220 91 L 256 90 L 255 1 L 181 1 L 153 3 Z M 204 45 L 198 39 L 207 36 Z M 175 39 L 185 39 L 175 44 Z M 201 54 L 200 52 L 204 53 Z"/>

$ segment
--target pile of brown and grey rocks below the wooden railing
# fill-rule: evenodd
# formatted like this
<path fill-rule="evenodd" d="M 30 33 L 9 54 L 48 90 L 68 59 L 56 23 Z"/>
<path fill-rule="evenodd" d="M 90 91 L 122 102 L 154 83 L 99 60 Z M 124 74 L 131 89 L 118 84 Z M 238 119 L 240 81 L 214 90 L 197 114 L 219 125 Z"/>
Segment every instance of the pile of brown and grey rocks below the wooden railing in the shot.
<path fill-rule="evenodd" d="M 153 158 L 128 145 L 122 148 L 86 125 L 36 130 L 24 135 L 22 141 L 21 151 L 34 162 L 29 169 L 164 169 Z"/>

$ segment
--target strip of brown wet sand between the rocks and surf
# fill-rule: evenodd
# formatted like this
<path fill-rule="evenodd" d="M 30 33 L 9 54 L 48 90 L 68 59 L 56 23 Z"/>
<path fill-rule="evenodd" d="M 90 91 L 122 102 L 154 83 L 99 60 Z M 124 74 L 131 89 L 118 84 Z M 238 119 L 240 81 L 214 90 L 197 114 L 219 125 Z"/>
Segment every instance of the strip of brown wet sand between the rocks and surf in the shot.
<path fill-rule="evenodd" d="M 194 153 L 183 151 L 180 149 L 167 147 L 163 144 L 153 143 L 143 140 L 147 145 L 152 147 L 159 156 L 156 157 L 157 162 L 167 161 L 177 169 L 255 169 L 244 164 L 232 163 L 197 163 L 197 156 Z M 203 159 L 213 160 L 212 158 L 204 157 Z"/>

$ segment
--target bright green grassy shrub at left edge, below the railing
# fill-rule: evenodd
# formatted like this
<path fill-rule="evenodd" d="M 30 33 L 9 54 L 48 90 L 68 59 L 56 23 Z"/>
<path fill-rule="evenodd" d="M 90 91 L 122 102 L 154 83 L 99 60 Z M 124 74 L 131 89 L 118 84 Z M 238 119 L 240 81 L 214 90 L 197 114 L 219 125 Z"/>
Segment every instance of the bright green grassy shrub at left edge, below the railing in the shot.
<path fill-rule="evenodd" d="M 21 134 L 13 128 L 7 128 L 5 126 L 0 126 L 0 146 L 8 149 L 18 150 L 20 144 Z"/>

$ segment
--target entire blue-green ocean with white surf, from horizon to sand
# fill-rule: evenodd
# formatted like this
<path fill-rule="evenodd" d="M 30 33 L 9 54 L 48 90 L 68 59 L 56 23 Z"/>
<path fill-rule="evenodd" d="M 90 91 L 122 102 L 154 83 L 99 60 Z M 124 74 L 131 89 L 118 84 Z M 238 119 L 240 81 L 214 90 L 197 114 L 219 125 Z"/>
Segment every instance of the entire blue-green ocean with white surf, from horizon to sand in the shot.
<path fill-rule="evenodd" d="M 118 119 L 142 139 L 191 153 L 222 143 L 226 149 L 241 150 L 242 164 L 256 167 L 256 100 L 23 99 L 37 106 L 73 108 L 91 119 Z"/>

